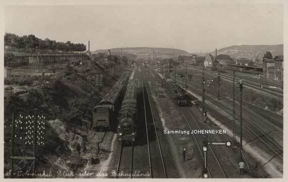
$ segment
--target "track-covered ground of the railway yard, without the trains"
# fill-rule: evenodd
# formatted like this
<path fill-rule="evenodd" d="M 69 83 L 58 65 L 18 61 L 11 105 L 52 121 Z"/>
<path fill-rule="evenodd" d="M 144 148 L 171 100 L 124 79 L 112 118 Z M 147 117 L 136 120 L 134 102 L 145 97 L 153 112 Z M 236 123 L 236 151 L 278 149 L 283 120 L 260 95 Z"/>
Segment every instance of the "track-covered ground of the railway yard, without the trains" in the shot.
<path fill-rule="evenodd" d="M 105 171 L 108 178 L 179 178 L 203 177 L 203 161 L 207 157 L 207 176 L 209 178 L 239 177 L 281 177 L 283 173 L 283 120 L 272 111 L 256 112 L 243 106 L 243 150 L 240 150 L 240 104 L 236 101 L 236 122 L 233 122 L 231 96 L 218 93 L 212 86 L 205 90 L 207 122 L 202 120 L 202 85 L 197 76 L 202 76 L 201 68 L 189 67 L 187 74 L 195 75 L 187 81 L 189 102 L 179 106 L 174 102 L 174 93 L 163 84 L 165 80 L 184 83 L 178 71 L 162 74 L 159 66 L 136 67 L 130 80 L 136 80 L 137 136 L 134 142 L 113 139 L 111 156 Z M 176 75 L 175 75 L 176 74 Z M 206 79 L 212 80 L 215 72 L 205 70 Z M 231 84 L 229 74 L 221 74 L 222 82 Z M 257 79 L 241 75 L 247 80 L 247 89 L 270 97 L 282 97 L 280 89 L 259 88 Z M 215 79 L 215 78 L 214 78 Z M 238 80 L 239 78 L 236 78 Z M 175 81 L 175 80 L 174 80 Z M 212 84 L 212 83 L 211 83 Z M 180 84 L 181 85 L 181 84 Z M 279 86 L 274 83 L 275 86 Z M 208 85 L 209 86 L 209 85 Z M 224 87 L 224 83 L 222 84 Z M 238 88 L 239 89 L 239 88 Z M 239 98 L 237 98 L 238 100 Z M 257 107 L 256 107 L 257 108 Z M 260 108 L 258 108 L 260 109 Z M 224 129 L 225 134 L 190 133 L 165 134 L 163 130 L 207 130 Z M 97 132 L 97 131 L 96 131 Z M 234 139 L 235 132 L 235 141 Z M 124 133 L 124 131 L 123 131 Z M 119 135 L 119 131 L 118 134 Z M 124 134 L 125 135 L 125 134 Z M 116 137 L 116 134 L 114 134 Z M 209 142 L 232 142 L 231 147 L 208 146 L 207 156 L 202 150 L 205 140 Z M 186 148 L 186 160 L 182 160 L 182 150 Z M 239 175 L 238 163 L 245 162 L 245 174 Z M 100 162 L 101 163 L 101 162 Z M 101 170 L 100 164 L 94 166 Z M 93 168 L 93 166 L 92 166 Z M 192 172 L 191 172 L 192 171 Z M 103 177 L 103 176 L 101 176 Z"/>

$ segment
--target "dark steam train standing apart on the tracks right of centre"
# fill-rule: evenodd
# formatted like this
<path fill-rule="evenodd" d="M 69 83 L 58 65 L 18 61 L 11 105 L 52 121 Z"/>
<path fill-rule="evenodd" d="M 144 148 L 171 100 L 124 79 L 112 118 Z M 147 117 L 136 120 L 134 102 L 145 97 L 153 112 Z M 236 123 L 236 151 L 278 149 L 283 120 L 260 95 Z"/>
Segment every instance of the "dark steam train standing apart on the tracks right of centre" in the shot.
<path fill-rule="evenodd" d="M 184 88 L 182 88 L 179 84 L 176 84 L 172 80 L 165 80 L 163 81 L 164 86 L 166 89 L 169 90 L 169 92 L 172 94 L 175 102 L 179 106 L 187 106 L 189 96 L 187 95 Z"/>

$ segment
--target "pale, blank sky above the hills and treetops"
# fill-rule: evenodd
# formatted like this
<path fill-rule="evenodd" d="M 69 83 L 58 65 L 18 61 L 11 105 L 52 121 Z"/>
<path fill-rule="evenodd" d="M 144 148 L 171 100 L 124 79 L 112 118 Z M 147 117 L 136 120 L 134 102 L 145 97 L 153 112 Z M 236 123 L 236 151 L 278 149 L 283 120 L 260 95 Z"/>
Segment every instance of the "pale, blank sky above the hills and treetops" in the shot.
<path fill-rule="evenodd" d="M 190 53 L 283 43 L 281 4 L 8 6 L 5 31 L 88 44 Z"/>

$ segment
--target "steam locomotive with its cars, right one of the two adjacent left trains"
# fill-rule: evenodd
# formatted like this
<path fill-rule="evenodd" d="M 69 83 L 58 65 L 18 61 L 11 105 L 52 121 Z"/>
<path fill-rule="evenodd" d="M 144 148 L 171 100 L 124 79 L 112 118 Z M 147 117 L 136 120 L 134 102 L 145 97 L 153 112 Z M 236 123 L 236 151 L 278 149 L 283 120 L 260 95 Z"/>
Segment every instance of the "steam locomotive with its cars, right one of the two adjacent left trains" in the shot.
<path fill-rule="evenodd" d="M 130 79 L 126 94 L 119 112 L 118 140 L 124 143 L 132 143 L 137 135 L 137 81 Z"/>

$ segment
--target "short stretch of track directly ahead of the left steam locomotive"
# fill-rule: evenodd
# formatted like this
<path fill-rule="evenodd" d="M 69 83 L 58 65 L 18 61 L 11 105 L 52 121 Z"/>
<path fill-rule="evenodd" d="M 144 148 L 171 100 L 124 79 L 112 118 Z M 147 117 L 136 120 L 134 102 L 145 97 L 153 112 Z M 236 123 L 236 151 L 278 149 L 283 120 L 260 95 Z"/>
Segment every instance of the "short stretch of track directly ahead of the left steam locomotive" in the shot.
<path fill-rule="evenodd" d="M 123 143 L 121 143 L 121 148 L 118 151 L 116 178 L 132 178 L 133 148 L 134 148 L 133 143 L 131 146 L 125 146 Z"/>

